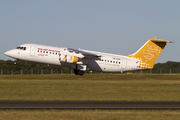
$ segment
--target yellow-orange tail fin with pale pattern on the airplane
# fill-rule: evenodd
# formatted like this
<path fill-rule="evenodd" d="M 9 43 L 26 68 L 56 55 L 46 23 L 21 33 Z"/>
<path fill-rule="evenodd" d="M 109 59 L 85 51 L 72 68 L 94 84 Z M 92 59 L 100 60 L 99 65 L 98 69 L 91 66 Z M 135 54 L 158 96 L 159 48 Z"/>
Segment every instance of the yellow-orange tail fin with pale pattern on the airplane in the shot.
<path fill-rule="evenodd" d="M 137 52 L 128 57 L 139 59 L 139 69 L 151 69 L 168 41 L 162 39 L 149 39 Z"/>

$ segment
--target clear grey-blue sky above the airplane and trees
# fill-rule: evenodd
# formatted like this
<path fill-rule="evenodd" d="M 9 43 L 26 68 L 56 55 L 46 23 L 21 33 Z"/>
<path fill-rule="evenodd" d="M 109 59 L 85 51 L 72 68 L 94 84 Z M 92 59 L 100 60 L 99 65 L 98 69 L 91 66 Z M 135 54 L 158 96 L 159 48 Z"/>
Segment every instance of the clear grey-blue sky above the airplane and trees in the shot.
<path fill-rule="evenodd" d="M 24 43 L 129 55 L 156 37 L 174 42 L 157 62 L 179 62 L 179 6 L 179 0 L 0 0 L 0 59 Z"/>

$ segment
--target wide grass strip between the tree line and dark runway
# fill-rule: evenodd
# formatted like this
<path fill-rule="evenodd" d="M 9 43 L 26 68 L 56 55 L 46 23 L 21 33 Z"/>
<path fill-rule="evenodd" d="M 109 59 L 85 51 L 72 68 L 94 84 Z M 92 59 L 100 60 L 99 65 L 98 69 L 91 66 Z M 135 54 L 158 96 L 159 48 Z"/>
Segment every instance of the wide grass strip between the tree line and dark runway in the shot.
<path fill-rule="evenodd" d="M 1 75 L 1 101 L 180 101 L 180 75 Z"/>

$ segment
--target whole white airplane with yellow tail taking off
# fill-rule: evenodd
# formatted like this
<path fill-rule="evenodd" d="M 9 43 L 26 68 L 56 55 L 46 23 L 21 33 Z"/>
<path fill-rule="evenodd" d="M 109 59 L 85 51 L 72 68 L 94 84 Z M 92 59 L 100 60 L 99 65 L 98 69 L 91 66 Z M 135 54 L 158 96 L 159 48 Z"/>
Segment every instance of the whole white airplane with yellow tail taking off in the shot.
<path fill-rule="evenodd" d="M 152 69 L 167 43 L 171 41 L 150 38 L 139 50 L 127 56 L 38 44 L 22 44 L 4 54 L 15 60 L 70 67 L 75 75 L 82 76 L 87 70 L 123 72 Z"/>

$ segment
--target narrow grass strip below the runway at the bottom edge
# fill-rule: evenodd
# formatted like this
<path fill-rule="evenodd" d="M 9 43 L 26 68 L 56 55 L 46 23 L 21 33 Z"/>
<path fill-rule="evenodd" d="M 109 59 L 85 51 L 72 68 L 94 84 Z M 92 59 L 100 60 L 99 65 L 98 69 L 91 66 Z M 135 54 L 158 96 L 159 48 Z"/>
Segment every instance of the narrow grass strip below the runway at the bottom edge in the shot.
<path fill-rule="evenodd" d="M 0 111 L 0 120 L 179 120 L 179 111 Z"/>

